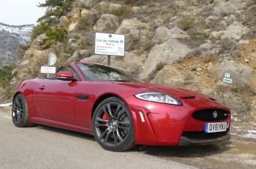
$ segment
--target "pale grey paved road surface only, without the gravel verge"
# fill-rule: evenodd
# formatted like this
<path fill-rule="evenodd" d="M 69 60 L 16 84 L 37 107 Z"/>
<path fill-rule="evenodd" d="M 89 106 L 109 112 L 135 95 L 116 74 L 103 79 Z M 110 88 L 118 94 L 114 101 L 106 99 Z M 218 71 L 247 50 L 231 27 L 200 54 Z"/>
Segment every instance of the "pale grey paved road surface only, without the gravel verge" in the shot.
<path fill-rule="evenodd" d="M 138 150 L 108 152 L 91 135 L 38 125 L 19 128 L 0 111 L 0 168 L 192 168 Z"/>

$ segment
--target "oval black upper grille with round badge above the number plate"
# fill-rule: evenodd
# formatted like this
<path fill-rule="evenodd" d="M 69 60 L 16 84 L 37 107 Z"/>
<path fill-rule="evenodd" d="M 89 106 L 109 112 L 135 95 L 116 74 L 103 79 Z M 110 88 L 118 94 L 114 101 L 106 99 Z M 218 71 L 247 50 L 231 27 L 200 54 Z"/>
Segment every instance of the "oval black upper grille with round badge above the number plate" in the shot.
<path fill-rule="evenodd" d="M 203 109 L 195 111 L 192 117 L 201 121 L 220 121 L 227 119 L 230 112 L 224 109 Z"/>

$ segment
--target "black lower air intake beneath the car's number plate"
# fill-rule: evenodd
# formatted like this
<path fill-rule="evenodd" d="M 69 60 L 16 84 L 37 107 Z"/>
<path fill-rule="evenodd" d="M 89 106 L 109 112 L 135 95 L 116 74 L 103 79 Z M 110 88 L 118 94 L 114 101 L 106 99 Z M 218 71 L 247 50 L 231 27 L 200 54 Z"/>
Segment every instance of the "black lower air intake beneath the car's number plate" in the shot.
<path fill-rule="evenodd" d="M 226 135 L 227 132 L 217 132 L 217 133 L 205 133 L 203 131 L 200 132 L 184 132 L 182 133 L 183 136 L 187 138 L 194 138 L 194 139 L 207 139 L 207 138 L 219 138 Z"/>

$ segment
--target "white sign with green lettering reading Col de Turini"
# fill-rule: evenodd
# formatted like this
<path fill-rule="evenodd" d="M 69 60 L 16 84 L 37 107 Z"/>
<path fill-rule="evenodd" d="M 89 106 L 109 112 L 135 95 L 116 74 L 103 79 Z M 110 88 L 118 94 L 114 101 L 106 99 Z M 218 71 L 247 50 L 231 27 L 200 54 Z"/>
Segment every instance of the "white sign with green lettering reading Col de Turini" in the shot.
<path fill-rule="evenodd" d="M 124 35 L 96 33 L 94 53 L 97 55 L 124 56 L 124 42 Z"/>

